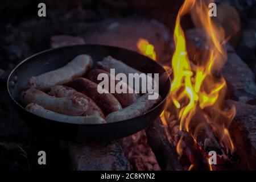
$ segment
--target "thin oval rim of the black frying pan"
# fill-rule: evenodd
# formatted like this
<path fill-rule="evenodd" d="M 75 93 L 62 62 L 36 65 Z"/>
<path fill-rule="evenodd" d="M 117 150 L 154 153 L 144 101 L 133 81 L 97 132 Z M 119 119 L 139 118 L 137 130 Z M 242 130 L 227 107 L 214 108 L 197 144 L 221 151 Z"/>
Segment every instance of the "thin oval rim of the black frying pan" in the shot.
<path fill-rule="evenodd" d="M 41 117 L 39 115 L 36 115 L 34 113 L 31 113 L 30 111 L 26 110 L 22 105 L 20 105 L 15 99 L 14 97 L 12 96 L 11 92 L 10 92 L 10 89 L 9 89 L 9 81 L 10 81 L 10 78 L 11 76 L 13 75 L 13 73 L 16 71 L 16 69 L 18 69 L 20 67 L 20 65 L 22 65 L 23 63 L 25 63 L 26 61 L 30 60 L 32 57 L 35 57 L 35 56 L 38 56 L 38 55 L 41 55 L 45 52 L 49 52 L 49 51 L 55 51 L 56 49 L 61 49 L 61 48 L 68 48 L 68 47 L 79 47 L 79 46 L 101 46 L 101 47 L 111 47 L 111 48 L 118 48 L 118 49 L 124 49 L 125 51 L 130 51 L 130 52 L 133 52 L 133 53 L 136 53 L 136 54 L 139 54 L 141 56 L 144 56 L 142 55 L 141 53 L 138 53 L 138 52 L 135 52 L 135 51 L 131 51 L 130 49 L 126 49 L 126 48 L 122 48 L 122 47 L 117 47 L 117 46 L 109 46 L 109 45 L 105 45 L 105 44 L 77 44 L 77 45 L 71 45 L 71 46 L 63 46 L 63 47 L 58 47 L 58 48 L 50 48 L 50 49 L 46 49 L 44 51 L 41 51 L 41 52 L 38 52 L 38 53 L 35 53 L 34 55 L 31 55 L 29 57 L 27 57 L 26 59 L 24 59 L 23 61 L 21 61 L 18 65 L 16 65 L 16 67 L 11 71 L 10 75 L 8 76 L 8 79 L 7 79 L 7 91 L 8 91 L 8 94 L 9 96 L 11 97 L 11 100 L 13 100 L 15 102 L 16 105 L 18 105 L 21 109 L 23 109 L 24 111 L 26 111 L 27 113 L 29 114 L 32 114 L 32 115 L 35 115 L 36 117 L 40 117 L 40 118 L 43 118 L 43 119 L 47 119 L 48 121 L 52 121 L 52 122 L 58 122 L 58 123 L 63 123 L 63 124 L 66 124 L 66 125 L 73 125 L 73 126 L 99 126 L 99 125 L 115 125 L 115 124 L 118 124 L 118 123 L 121 123 L 121 122 L 129 122 L 131 119 L 135 119 L 135 118 L 139 118 L 139 117 L 142 117 L 144 115 L 147 115 L 148 113 L 150 113 L 151 111 L 153 111 L 154 109 L 156 109 L 156 107 L 159 107 L 160 105 L 164 104 L 164 102 L 167 101 L 169 95 L 170 95 L 170 92 L 168 92 L 166 94 L 166 96 L 163 98 L 163 100 L 161 102 L 159 102 L 159 104 L 155 105 L 154 107 L 152 107 L 150 110 L 148 110 L 146 113 L 143 113 L 137 117 L 133 117 L 133 118 L 129 118 L 129 119 L 125 119 L 125 120 L 121 120 L 121 121 L 116 121 L 116 122 L 110 122 L 110 123 L 98 123 L 98 124 L 81 124 L 81 123 L 69 123 L 69 122 L 61 122 L 61 121 L 56 121 L 56 120 L 52 120 L 52 119 L 48 119 L 48 118 L 44 118 L 44 117 Z M 147 56 L 144 56 L 144 57 L 147 57 Z M 152 60 L 150 57 L 147 57 L 147 59 L 150 59 Z M 161 67 L 163 70 L 164 70 L 164 73 L 167 73 L 166 70 L 162 67 L 162 65 L 160 65 L 158 63 L 158 61 L 155 61 L 155 60 L 152 60 L 154 61 L 154 63 L 158 64 L 159 67 Z M 168 75 L 168 73 L 167 73 Z M 170 76 L 168 75 L 168 85 L 170 85 L 170 88 L 171 88 L 171 78 Z"/>

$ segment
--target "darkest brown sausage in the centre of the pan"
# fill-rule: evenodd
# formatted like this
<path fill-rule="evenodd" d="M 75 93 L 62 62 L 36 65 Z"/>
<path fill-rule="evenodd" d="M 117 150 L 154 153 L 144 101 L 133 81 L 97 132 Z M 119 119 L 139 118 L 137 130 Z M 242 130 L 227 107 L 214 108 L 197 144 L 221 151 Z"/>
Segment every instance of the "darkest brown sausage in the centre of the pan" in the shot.
<path fill-rule="evenodd" d="M 86 78 L 77 78 L 68 86 L 92 98 L 92 100 L 101 107 L 105 115 L 122 109 L 117 98 L 115 98 L 111 93 L 108 93 L 108 91 L 100 94 L 97 90 L 98 85 Z"/>

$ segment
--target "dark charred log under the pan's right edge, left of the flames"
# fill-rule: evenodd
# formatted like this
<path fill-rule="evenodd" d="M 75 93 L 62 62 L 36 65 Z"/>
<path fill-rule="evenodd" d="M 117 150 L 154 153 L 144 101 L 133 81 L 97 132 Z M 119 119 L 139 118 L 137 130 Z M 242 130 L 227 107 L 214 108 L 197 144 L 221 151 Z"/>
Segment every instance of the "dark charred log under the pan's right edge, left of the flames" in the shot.
<path fill-rule="evenodd" d="M 183 170 L 177 159 L 175 148 L 171 146 L 166 129 L 159 118 L 147 127 L 146 134 L 147 143 L 154 152 L 162 170 Z"/>

